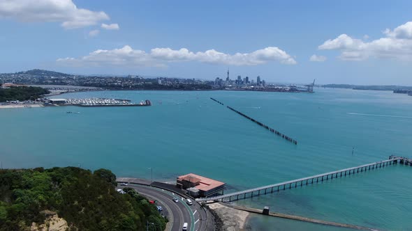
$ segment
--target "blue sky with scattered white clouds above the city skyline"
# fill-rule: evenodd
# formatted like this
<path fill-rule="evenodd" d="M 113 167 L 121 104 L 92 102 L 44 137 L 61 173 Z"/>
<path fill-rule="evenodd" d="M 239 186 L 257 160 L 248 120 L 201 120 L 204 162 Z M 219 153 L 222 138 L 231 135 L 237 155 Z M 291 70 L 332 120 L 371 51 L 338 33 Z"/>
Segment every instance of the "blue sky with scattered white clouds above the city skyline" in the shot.
<path fill-rule="evenodd" d="M 0 73 L 412 86 L 412 1 L 0 0 Z"/>

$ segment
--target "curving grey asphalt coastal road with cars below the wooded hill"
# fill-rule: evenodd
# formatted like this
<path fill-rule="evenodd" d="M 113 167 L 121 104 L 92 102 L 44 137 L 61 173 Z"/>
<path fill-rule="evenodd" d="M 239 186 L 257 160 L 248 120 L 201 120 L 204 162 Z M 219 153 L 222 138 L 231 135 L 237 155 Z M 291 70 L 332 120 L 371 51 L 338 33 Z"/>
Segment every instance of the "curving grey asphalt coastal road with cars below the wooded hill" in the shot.
<path fill-rule="evenodd" d="M 193 202 L 193 205 L 186 204 L 186 200 L 181 196 L 158 189 L 151 186 L 143 186 L 139 184 L 128 184 L 128 186 L 118 186 L 119 189 L 130 187 L 135 189 L 142 196 L 149 198 L 149 200 L 156 200 L 156 205 L 163 207 L 161 214 L 168 217 L 166 230 L 178 231 L 182 230 L 183 223 L 188 223 L 188 229 L 191 231 L 201 230 L 200 207 L 198 203 Z M 177 198 L 179 202 L 174 202 L 172 198 Z"/>

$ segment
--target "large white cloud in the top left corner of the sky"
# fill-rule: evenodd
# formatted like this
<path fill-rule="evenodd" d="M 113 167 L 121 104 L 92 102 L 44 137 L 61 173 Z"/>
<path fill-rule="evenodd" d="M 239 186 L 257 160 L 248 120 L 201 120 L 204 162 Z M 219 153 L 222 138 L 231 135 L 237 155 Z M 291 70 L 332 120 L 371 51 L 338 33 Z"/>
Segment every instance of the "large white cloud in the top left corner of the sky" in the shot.
<path fill-rule="evenodd" d="M 65 29 L 75 29 L 108 20 L 103 11 L 78 8 L 72 0 L 0 0 L 0 18 L 21 22 L 61 22 Z"/>

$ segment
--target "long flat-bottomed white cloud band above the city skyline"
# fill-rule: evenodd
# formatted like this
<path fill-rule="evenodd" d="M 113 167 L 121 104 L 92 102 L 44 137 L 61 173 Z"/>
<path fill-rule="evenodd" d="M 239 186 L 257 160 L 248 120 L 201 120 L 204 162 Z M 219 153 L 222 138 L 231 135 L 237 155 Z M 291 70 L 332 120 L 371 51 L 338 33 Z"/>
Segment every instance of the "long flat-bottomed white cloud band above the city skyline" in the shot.
<path fill-rule="evenodd" d="M 126 45 L 120 49 L 98 49 L 87 56 L 80 58 L 59 58 L 58 63 L 64 65 L 135 65 L 163 67 L 165 63 L 197 61 L 200 63 L 215 63 L 224 65 L 259 65 L 270 61 L 284 64 L 296 64 L 296 61 L 285 51 L 278 47 L 266 47 L 249 54 L 225 54 L 214 49 L 205 52 L 193 52 L 182 48 L 154 48 L 149 53 L 133 49 Z"/>

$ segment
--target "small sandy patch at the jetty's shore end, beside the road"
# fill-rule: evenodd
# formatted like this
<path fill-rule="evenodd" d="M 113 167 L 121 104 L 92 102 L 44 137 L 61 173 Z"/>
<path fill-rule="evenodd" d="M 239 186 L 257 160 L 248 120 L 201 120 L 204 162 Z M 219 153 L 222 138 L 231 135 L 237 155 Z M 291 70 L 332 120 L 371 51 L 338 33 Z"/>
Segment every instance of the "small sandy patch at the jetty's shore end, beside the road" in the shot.
<path fill-rule="evenodd" d="M 209 204 L 209 209 L 213 209 L 216 214 L 219 215 L 223 221 L 223 230 L 236 231 L 236 230 L 246 230 L 244 225 L 249 216 L 249 212 L 241 211 L 238 209 L 233 209 L 222 205 L 221 203 Z"/>

